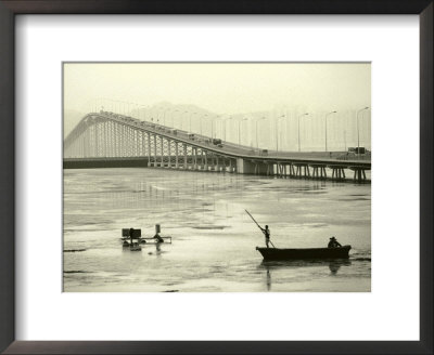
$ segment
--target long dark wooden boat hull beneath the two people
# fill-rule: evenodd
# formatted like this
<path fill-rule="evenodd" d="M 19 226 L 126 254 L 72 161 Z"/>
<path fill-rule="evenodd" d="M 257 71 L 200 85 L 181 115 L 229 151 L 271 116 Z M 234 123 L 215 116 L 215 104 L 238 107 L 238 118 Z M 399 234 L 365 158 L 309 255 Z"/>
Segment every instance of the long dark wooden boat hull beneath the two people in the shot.
<path fill-rule="evenodd" d="M 352 246 L 339 248 L 259 248 L 256 247 L 264 260 L 301 260 L 301 259 L 348 259 Z"/>

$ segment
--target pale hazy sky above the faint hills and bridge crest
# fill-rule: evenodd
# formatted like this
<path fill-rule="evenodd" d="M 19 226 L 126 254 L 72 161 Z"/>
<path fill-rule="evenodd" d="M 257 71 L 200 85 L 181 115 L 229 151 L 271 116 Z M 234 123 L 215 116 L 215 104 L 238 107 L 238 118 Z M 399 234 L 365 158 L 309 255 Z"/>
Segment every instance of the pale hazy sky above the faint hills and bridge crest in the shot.
<path fill-rule="evenodd" d="M 216 114 L 370 106 L 370 64 L 65 64 L 65 109 L 112 98 L 193 104 Z"/>

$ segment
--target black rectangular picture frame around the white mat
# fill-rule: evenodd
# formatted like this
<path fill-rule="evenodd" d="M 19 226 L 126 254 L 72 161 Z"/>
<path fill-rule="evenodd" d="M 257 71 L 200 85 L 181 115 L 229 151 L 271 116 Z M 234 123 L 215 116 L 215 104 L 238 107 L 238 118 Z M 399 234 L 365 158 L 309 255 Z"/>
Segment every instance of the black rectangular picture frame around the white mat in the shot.
<path fill-rule="evenodd" d="M 4 354 L 433 354 L 433 8 L 432 0 L 0 0 L 0 351 Z M 15 341 L 14 18 L 17 14 L 419 15 L 420 341 Z"/>

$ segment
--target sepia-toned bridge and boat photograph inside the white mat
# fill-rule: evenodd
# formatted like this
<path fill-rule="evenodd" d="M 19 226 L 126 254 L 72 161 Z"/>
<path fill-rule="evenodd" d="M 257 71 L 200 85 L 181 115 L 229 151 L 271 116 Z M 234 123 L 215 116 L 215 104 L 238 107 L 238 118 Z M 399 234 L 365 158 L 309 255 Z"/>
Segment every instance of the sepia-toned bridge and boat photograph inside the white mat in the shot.
<path fill-rule="evenodd" d="M 371 64 L 63 63 L 64 292 L 371 292 Z"/>

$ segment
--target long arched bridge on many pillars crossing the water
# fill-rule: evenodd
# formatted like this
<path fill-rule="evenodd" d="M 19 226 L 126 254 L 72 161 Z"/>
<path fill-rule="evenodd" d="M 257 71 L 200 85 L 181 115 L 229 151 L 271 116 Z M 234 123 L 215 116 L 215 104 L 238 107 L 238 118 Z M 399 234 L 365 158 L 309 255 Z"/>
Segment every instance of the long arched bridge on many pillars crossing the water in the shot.
<path fill-rule="evenodd" d="M 358 182 L 366 181 L 366 171 L 371 169 L 370 158 L 254 149 L 104 110 L 87 114 L 64 141 L 64 168 L 122 166 L 123 161 L 152 168 L 333 180 L 346 179 L 345 170 L 352 170 Z"/>

